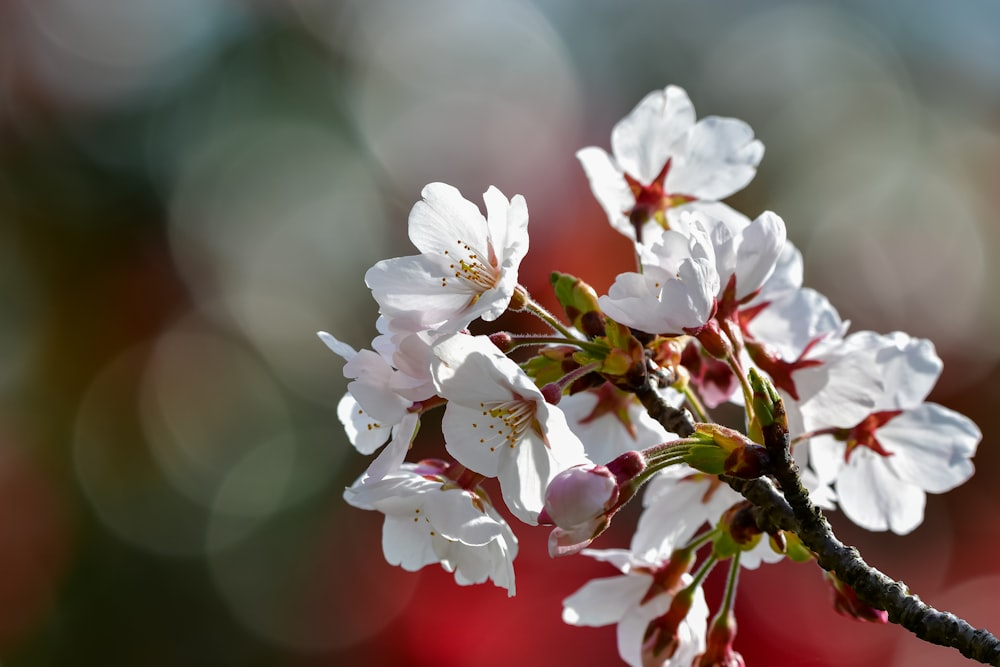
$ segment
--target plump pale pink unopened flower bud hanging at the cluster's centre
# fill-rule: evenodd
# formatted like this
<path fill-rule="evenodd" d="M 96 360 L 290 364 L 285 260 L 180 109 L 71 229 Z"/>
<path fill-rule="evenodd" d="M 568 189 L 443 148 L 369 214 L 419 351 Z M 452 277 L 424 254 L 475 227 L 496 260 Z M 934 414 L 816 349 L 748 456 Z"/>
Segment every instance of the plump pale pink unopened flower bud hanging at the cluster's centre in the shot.
<path fill-rule="evenodd" d="M 539 521 L 544 517 L 560 528 L 570 529 L 602 516 L 617 500 L 618 482 L 610 470 L 604 466 L 575 466 L 549 483 Z"/>

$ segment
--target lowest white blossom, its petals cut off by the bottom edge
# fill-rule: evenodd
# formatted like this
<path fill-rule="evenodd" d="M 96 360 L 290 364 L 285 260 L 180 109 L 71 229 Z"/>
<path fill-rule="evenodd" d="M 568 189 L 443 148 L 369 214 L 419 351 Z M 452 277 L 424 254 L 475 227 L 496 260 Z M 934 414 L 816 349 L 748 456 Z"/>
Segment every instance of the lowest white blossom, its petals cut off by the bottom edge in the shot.
<path fill-rule="evenodd" d="M 671 575 L 674 581 L 665 582 L 663 575 L 670 566 L 666 557 L 644 559 L 620 549 L 586 549 L 583 553 L 613 564 L 623 574 L 594 579 L 566 598 L 563 621 L 582 626 L 617 623 L 618 653 L 622 660 L 632 667 L 644 667 L 646 629 L 652 620 L 670 609 L 675 593 L 691 582 L 691 576 L 676 572 Z M 690 610 L 676 628 L 677 645 L 662 663 L 664 667 L 688 667 L 705 650 L 707 619 L 708 605 L 699 587 L 694 591 Z"/>

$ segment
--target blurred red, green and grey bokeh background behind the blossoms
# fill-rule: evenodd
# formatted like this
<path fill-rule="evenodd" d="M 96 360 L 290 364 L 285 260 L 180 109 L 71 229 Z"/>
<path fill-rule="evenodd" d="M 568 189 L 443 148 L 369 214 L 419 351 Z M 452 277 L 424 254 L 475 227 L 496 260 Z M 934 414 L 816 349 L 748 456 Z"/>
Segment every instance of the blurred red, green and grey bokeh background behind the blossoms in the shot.
<path fill-rule="evenodd" d="M 512 600 L 385 564 L 314 332 L 368 345 L 363 272 L 435 180 L 525 195 L 543 300 L 605 289 L 630 250 L 574 152 L 668 83 L 755 128 L 731 203 L 785 218 L 807 284 L 937 343 L 977 475 L 905 537 L 833 519 L 1000 630 L 998 35 L 993 0 L 0 1 L 0 664 L 619 664 L 559 619 L 612 571 L 544 529 Z M 836 616 L 812 565 L 737 604 L 751 665 L 968 664 Z"/>

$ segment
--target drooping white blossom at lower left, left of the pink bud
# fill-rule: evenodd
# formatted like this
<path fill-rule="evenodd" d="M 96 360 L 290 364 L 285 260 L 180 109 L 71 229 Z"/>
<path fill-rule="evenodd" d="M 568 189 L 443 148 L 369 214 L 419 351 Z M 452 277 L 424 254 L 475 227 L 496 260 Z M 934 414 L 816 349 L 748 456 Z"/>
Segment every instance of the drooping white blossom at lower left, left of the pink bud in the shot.
<path fill-rule="evenodd" d="M 376 482 L 358 480 L 344 499 L 385 514 L 382 549 L 391 565 L 416 571 L 441 563 L 461 585 L 490 579 L 514 595 L 517 538 L 484 494 L 444 473 L 443 464 L 404 463 Z"/>

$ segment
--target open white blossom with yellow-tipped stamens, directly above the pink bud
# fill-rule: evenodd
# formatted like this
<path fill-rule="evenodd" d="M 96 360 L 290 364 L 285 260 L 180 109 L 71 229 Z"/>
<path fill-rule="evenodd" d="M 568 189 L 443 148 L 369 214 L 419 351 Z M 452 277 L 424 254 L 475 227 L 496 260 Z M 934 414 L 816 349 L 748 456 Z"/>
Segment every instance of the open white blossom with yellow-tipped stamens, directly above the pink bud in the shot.
<path fill-rule="evenodd" d="M 455 334 L 434 346 L 438 393 L 448 399 L 445 446 L 470 470 L 497 477 L 507 507 L 535 524 L 557 473 L 589 463 L 559 408 L 486 336 Z"/>

